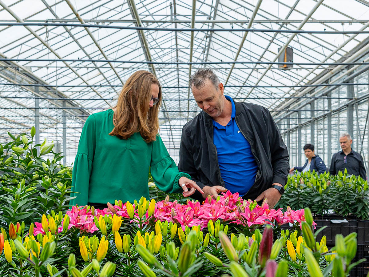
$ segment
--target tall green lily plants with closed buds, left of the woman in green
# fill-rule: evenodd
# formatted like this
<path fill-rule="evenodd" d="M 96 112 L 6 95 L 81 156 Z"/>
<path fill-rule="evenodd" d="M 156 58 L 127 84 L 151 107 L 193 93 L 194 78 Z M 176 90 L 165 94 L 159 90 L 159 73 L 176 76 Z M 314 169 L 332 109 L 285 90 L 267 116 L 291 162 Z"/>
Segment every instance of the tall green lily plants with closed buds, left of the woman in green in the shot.
<path fill-rule="evenodd" d="M 0 226 L 23 220 L 27 225 L 41 215 L 68 209 L 72 170 L 60 163 L 54 143 L 35 144 L 35 130 L 0 144 Z M 47 156 L 46 156 L 47 155 Z"/>

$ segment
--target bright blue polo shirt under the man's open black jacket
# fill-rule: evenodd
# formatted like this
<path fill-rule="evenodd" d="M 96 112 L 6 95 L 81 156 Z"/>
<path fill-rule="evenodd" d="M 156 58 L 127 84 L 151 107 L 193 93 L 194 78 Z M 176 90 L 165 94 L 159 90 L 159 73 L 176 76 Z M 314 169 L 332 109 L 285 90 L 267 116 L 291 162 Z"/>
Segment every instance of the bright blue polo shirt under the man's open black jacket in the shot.
<path fill-rule="evenodd" d="M 225 188 L 242 196 L 254 185 L 258 165 L 251 152 L 250 143 L 237 126 L 233 99 L 229 96 L 225 98 L 232 103 L 231 120 L 227 126 L 213 120 L 213 142 L 217 148 L 220 175 Z"/>

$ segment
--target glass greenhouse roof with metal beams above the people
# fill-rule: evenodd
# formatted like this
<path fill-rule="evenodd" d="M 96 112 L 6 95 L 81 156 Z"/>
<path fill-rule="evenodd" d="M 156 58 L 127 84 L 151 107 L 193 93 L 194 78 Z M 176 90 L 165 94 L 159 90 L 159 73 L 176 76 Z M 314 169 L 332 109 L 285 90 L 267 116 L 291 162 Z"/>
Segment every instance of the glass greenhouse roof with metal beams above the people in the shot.
<path fill-rule="evenodd" d="M 335 63 L 366 51 L 368 11 L 365 0 L 0 0 L 0 140 L 36 114 L 40 136 L 61 143 L 65 130 L 74 157 L 86 117 L 145 69 L 163 87 L 160 133 L 176 156 L 200 111 L 188 88 L 196 69 L 214 68 L 226 95 L 281 117 L 318 88 L 302 85 L 329 82 L 345 66 Z M 287 46 L 294 64 L 283 70 Z"/>

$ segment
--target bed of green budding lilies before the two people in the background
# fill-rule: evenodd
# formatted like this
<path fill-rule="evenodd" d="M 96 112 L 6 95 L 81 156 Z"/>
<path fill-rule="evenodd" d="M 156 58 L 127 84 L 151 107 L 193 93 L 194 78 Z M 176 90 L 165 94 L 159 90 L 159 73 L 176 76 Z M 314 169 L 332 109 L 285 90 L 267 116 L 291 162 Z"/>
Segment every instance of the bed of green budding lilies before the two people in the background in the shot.
<path fill-rule="evenodd" d="M 315 215 L 333 210 L 339 216 L 369 220 L 368 182 L 360 176 L 305 172 L 289 175 L 285 192 L 275 208 L 302 209 L 310 207 Z"/>

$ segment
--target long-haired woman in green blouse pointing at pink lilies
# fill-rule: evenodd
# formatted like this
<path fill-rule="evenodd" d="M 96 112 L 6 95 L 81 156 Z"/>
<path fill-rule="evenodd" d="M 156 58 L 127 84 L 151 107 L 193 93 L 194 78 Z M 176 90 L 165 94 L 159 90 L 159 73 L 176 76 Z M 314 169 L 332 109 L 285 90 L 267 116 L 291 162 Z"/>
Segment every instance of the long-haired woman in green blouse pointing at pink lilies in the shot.
<path fill-rule="evenodd" d="M 158 134 L 161 86 L 147 71 L 133 73 L 114 109 L 91 114 L 83 127 L 73 166 L 70 205 L 106 207 L 107 202 L 149 199 L 148 173 L 158 188 L 204 193 L 178 171 Z M 190 190 L 188 189 L 190 188 Z"/>

